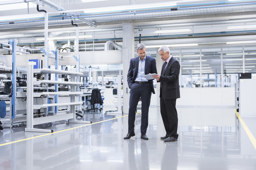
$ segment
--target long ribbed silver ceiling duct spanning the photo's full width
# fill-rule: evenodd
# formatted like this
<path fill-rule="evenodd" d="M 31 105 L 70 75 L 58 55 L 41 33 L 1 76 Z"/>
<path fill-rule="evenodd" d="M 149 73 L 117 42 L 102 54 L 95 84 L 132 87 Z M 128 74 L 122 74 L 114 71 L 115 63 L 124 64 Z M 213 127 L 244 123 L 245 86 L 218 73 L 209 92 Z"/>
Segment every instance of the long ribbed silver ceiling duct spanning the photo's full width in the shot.
<path fill-rule="evenodd" d="M 171 10 L 158 10 L 158 11 L 145 11 L 145 12 L 132 12 L 132 13 L 119 13 L 119 14 L 106 14 L 106 15 L 94 15 L 94 16 L 79 16 L 89 22 L 110 22 L 110 21 L 125 21 L 125 20 L 142 20 L 142 19 L 153 19 L 153 18 L 167 18 L 175 16 L 195 16 L 195 15 L 207 15 L 207 14 L 223 14 L 223 13 L 234 13 L 234 12 L 249 12 L 256 11 L 256 3 L 247 4 L 230 4 L 230 5 L 219 5 L 219 6 L 207 6 L 207 7 L 193 7 L 193 8 L 179 8 L 177 11 Z M 74 17 L 75 18 L 75 17 Z M 83 23 L 82 21 L 76 20 L 76 22 Z M 52 25 L 65 25 L 70 24 L 69 18 L 62 17 L 60 19 L 49 19 L 49 26 Z M 0 23 L 0 29 L 14 29 L 14 28 L 27 28 L 27 27 L 43 27 L 43 20 L 33 21 L 21 21 L 14 22 L 14 24 Z"/>

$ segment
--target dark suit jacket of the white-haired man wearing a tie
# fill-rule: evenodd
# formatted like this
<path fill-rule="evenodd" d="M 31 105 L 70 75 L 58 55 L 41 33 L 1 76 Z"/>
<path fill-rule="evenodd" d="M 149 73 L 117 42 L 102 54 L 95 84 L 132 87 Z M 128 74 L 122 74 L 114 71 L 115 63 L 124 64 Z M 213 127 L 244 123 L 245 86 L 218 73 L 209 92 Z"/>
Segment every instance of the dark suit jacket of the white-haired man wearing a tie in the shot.
<path fill-rule="evenodd" d="M 163 75 L 162 72 L 163 67 L 161 71 L 161 77 L 159 79 L 159 81 L 162 83 L 162 88 L 160 89 L 160 97 L 162 97 L 164 100 L 180 98 L 179 62 L 172 57 L 167 64 Z"/>

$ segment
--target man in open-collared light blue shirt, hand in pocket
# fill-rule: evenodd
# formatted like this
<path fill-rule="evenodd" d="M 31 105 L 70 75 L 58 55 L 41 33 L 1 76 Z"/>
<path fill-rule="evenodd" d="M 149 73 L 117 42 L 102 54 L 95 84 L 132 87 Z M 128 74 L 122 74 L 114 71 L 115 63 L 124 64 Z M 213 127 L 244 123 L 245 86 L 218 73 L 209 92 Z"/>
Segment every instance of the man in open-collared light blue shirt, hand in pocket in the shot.
<path fill-rule="evenodd" d="M 138 57 L 132 58 L 127 74 L 128 86 L 130 91 L 129 115 L 128 115 L 128 134 L 124 139 L 130 139 L 135 135 L 134 121 L 135 112 L 139 99 L 141 98 L 141 138 L 148 140 L 146 135 L 148 128 L 148 109 L 150 105 L 151 92 L 155 94 L 153 80 L 147 80 L 144 75 L 157 73 L 156 60 L 146 55 L 146 47 L 143 44 L 137 45 Z"/>

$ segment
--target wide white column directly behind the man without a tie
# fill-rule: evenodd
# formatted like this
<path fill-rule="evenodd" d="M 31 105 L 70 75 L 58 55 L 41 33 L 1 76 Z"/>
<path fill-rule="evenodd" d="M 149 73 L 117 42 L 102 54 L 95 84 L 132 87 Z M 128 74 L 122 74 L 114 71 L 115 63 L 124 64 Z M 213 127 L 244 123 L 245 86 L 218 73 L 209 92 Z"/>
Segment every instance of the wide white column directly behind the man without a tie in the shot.
<path fill-rule="evenodd" d="M 129 111 L 130 89 L 127 83 L 127 73 L 131 58 L 134 57 L 134 25 L 123 23 L 123 113 Z"/>

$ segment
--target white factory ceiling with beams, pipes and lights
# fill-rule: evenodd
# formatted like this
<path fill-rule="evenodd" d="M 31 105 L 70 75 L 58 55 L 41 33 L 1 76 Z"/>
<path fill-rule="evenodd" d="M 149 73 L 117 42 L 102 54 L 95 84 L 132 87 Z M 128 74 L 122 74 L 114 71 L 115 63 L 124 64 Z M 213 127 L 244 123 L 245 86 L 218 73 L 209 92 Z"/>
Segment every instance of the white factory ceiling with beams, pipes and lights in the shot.
<path fill-rule="evenodd" d="M 15 2 L 14 5 L 24 5 L 29 6 L 29 8 L 23 9 L 15 9 L 15 10 L 5 10 L 7 9 L 4 4 L 8 2 Z M 20 3 L 17 3 L 20 2 Z M 7 15 L 21 15 L 21 14 L 38 14 L 39 12 L 36 10 L 36 1 L 27 0 L 25 3 L 23 0 L 21 1 L 0 1 L 0 16 Z M 121 8 L 120 6 L 126 5 L 127 7 L 130 5 L 141 5 L 145 6 L 150 3 L 166 3 L 170 1 L 139 1 L 139 0 L 108 0 L 108 1 L 93 1 L 83 3 L 80 0 L 52 0 L 52 3 L 65 8 L 65 10 L 69 10 L 68 12 L 76 13 L 79 10 L 79 13 L 86 13 L 90 8 L 102 8 L 102 7 L 113 7 L 116 6 L 115 10 Z M 236 28 L 236 29 L 228 29 L 230 26 L 242 26 L 242 25 L 256 25 L 255 11 L 256 7 L 254 6 L 256 1 L 171 1 L 177 3 L 178 11 L 173 11 L 174 16 L 158 16 L 155 14 L 148 18 L 143 19 L 130 19 L 127 17 L 125 22 L 133 22 L 134 23 L 134 36 L 135 36 L 135 44 L 139 42 L 139 38 L 141 37 L 141 42 L 146 46 L 149 45 L 172 45 L 172 44 L 198 44 L 196 47 L 171 47 L 172 53 L 174 56 L 183 56 L 182 63 L 184 65 L 189 65 L 189 60 L 191 58 L 199 59 L 199 54 L 202 54 L 202 59 L 207 57 L 207 64 L 210 64 L 213 68 L 212 70 L 220 73 L 220 58 L 221 53 L 225 64 L 242 64 L 242 61 L 226 61 L 228 58 L 242 58 L 243 50 L 245 53 L 245 58 L 256 58 L 255 51 L 255 43 L 250 44 L 233 44 L 227 45 L 226 43 L 229 41 L 248 41 L 248 40 L 256 40 L 255 30 L 256 28 Z M 249 5 L 247 5 L 250 3 Z M 238 5 L 237 5 L 238 4 Z M 144 6 L 142 5 L 142 7 Z M 243 5 L 247 5 L 243 7 Z M 199 10 L 205 9 L 205 11 Z M 209 10 L 211 8 L 211 10 Z M 229 11 L 229 8 L 232 8 L 234 11 Z M 49 16 L 54 16 L 61 21 L 61 13 L 63 11 L 57 11 L 53 8 L 43 5 L 39 3 L 40 10 L 46 10 L 49 13 Z M 103 8 L 102 8 L 103 9 Z M 169 8 L 170 9 L 170 8 Z M 82 10 L 82 11 L 81 11 Z M 165 8 L 155 8 L 155 9 L 147 9 L 147 10 L 138 10 L 131 11 L 130 13 L 135 13 L 136 15 L 140 15 L 139 12 L 148 12 L 153 10 L 160 10 L 161 12 L 165 10 Z M 208 11 L 207 11 L 208 10 Z M 177 12 L 185 11 L 184 14 L 175 15 Z M 66 13 L 67 14 L 67 13 Z M 84 14 L 83 16 L 90 16 L 90 22 L 95 22 L 97 25 L 96 28 L 90 27 L 90 25 L 86 23 L 82 23 L 79 20 L 75 19 L 74 21 L 79 25 L 79 31 L 81 35 L 92 35 L 93 38 L 84 38 L 86 41 L 86 48 L 92 46 L 94 43 L 94 47 L 99 46 L 99 49 L 102 49 L 102 45 L 106 43 L 107 40 L 113 40 L 116 43 L 122 45 L 122 23 L 124 20 L 117 20 L 112 18 L 122 17 L 122 13 L 120 12 L 112 12 L 111 14 L 115 14 L 113 16 L 107 16 L 106 13 L 98 13 L 93 14 L 95 18 L 91 17 L 92 14 Z M 99 15 L 107 18 L 109 17 L 109 21 L 100 21 L 101 18 Z M 172 13 L 171 13 L 172 15 Z M 58 17 L 57 17 L 58 16 Z M 0 41 L 4 41 L 7 39 L 18 39 L 18 43 L 20 45 L 30 45 L 30 46 L 43 46 L 43 41 L 37 41 L 36 38 L 44 37 L 44 27 L 36 27 L 29 26 L 31 22 L 22 21 L 22 23 L 14 23 L 14 24 L 4 24 L 4 17 L 0 19 Z M 89 19 L 89 18 L 86 18 Z M 66 19 L 65 19 L 66 20 Z M 70 19 L 69 19 L 70 20 Z M 49 37 L 55 36 L 67 36 L 67 35 L 75 35 L 75 27 L 71 25 L 71 20 L 65 24 L 52 24 L 49 25 Z M 11 20 L 10 20 L 11 21 Z M 8 21 L 9 22 L 9 21 Z M 22 25 L 23 22 L 26 22 L 28 26 L 12 28 L 13 25 Z M 6 26 L 7 25 L 7 26 Z M 1 28 L 2 27 L 2 28 Z M 5 28 L 4 27 L 10 27 Z M 167 33 L 155 33 L 158 30 L 181 30 L 188 29 L 185 32 L 167 32 Z M 67 40 L 58 40 L 58 46 L 66 44 Z M 83 44 L 83 43 L 82 43 Z M 82 47 L 81 47 L 82 49 Z M 1 52 L 1 50 L 0 50 Z M 155 56 L 156 48 L 149 48 L 147 50 L 148 54 Z M 229 55 L 226 55 L 229 54 Z M 234 54 L 234 55 L 230 55 Z M 187 58 L 186 56 L 190 56 Z M 245 60 L 245 64 L 253 64 L 256 60 Z M 249 63 L 250 62 L 250 63 Z M 255 65 L 254 65 L 255 66 Z M 256 72 L 255 67 L 251 67 L 251 72 Z M 189 73 L 189 70 L 182 70 L 183 73 Z"/>

